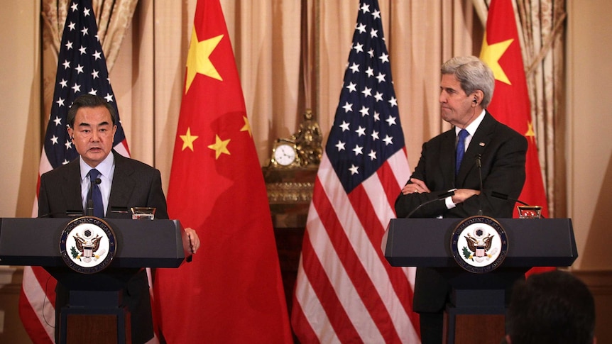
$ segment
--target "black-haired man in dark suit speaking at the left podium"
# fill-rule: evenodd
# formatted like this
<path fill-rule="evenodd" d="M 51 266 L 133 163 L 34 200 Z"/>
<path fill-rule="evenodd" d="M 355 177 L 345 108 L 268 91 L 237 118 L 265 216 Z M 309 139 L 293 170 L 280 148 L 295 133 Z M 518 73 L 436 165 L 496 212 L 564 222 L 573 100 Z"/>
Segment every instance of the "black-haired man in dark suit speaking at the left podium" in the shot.
<path fill-rule="evenodd" d="M 125 217 L 113 209 L 133 206 L 155 207 L 156 218 L 168 218 L 160 172 L 155 168 L 119 155 L 113 148 L 116 113 L 99 96 L 85 94 L 75 99 L 68 111 L 68 135 L 79 153 L 67 165 L 40 176 L 38 216 L 66 216 L 69 211 L 86 213 L 90 189 L 89 171 L 99 172 L 104 216 Z M 195 253 L 200 239 L 192 228 L 185 228 L 184 245 Z M 58 283 L 56 289 L 56 341 L 59 310 L 67 303 L 67 291 Z M 132 343 L 146 343 L 153 338 L 153 318 L 146 272 L 141 270 L 128 282 L 123 292 L 124 306 L 131 312 Z"/>

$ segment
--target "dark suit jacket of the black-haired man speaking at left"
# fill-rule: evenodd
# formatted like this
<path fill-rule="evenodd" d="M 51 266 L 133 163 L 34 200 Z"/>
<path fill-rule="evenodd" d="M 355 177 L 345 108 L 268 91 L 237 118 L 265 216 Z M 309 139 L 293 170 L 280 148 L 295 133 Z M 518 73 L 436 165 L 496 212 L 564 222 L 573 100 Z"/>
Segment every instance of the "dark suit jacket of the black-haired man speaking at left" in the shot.
<path fill-rule="evenodd" d="M 129 213 L 112 211 L 112 209 L 126 210 L 132 206 L 153 206 L 156 208 L 155 218 L 168 218 L 160 172 L 142 162 L 123 157 L 114 150 L 113 155 L 115 172 L 105 217 L 131 218 Z M 65 217 L 68 211 L 85 213 L 81 199 L 78 159 L 40 176 L 38 216 Z M 55 309 L 58 320 L 60 307 L 67 303 L 67 291 L 58 284 L 56 294 Z M 153 338 L 153 318 L 146 272 L 138 272 L 127 283 L 123 293 L 123 303 L 131 311 L 132 343 L 146 343 Z"/>

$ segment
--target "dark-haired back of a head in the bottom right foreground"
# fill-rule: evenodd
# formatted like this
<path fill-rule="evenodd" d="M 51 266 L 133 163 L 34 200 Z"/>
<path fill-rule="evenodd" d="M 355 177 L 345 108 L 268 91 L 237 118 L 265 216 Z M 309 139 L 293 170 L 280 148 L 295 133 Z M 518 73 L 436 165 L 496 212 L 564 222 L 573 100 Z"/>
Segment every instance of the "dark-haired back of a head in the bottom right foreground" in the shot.
<path fill-rule="evenodd" d="M 514 286 L 506 332 L 516 344 L 593 343 L 593 295 L 569 272 L 532 274 Z"/>

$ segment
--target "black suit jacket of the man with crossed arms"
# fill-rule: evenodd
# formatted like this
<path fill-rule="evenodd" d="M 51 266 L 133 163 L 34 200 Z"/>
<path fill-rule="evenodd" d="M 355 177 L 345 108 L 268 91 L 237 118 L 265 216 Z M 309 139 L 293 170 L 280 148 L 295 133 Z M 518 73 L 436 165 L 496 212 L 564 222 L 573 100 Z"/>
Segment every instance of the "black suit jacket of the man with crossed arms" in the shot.
<path fill-rule="evenodd" d="M 474 133 L 455 177 L 454 128 L 427 141 L 411 177 L 421 179 L 431 193 L 402 194 L 395 200 L 398 218 L 406 217 L 417 206 L 438 198 L 449 189 L 481 189 L 476 155 L 481 155 L 483 189 L 453 209 L 447 209 L 443 200 L 422 206 L 411 217 L 466 218 L 482 209 L 483 215 L 493 218 L 511 218 L 514 204 L 491 196 L 500 192 L 517 199 L 525 184 L 525 155 L 527 140 L 508 126 L 496 121 L 488 111 Z M 408 182 L 410 183 L 410 181 Z M 447 282 L 434 270 L 419 268 L 415 281 L 413 307 L 415 311 L 442 310 L 449 292 Z"/>

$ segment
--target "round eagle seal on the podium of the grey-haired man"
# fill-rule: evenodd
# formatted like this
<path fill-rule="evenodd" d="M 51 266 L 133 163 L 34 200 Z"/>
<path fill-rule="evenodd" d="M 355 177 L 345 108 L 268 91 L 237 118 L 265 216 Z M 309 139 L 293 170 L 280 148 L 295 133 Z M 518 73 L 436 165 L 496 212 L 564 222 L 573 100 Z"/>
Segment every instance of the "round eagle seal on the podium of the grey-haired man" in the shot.
<path fill-rule="evenodd" d="M 454 260 L 469 272 L 496 270 L 508 253 L 506 231 L 493 218 L 471 216 L 454 229 L 451 237 Z"/>

